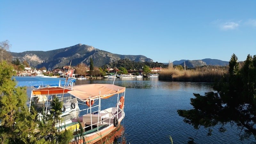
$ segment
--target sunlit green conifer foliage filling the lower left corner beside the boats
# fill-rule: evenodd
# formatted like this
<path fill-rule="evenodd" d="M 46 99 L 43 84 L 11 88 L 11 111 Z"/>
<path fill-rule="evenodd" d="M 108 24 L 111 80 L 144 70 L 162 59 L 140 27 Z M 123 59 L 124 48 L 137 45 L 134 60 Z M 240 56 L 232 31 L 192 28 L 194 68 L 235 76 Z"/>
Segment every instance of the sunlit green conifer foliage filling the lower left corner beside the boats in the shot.
<path fill-rule="evenodd" d="M 16 87 L 11 79 L 13 74 L 13 67 L 3 61 L 0 64 L 0 143 L 68 143 L 72 132 L 61 133 L 55 127 L 62 108 L 59 99 L 52 100 L 51 113 L 38 121 L 36 110 L 32 107 L 28 111 L 26 88 Z"/>

